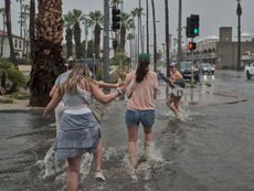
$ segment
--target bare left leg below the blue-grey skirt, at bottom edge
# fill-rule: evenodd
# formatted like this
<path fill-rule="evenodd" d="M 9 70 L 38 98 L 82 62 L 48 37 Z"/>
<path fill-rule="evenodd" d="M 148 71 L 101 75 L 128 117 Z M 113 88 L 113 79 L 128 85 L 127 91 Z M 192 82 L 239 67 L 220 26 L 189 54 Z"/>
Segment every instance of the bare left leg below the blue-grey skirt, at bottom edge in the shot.
<path fill-rule="evenodd" d="M 77 191 L 80 182 L 81 155 L 76 156 L 73 159 L 67 159 L 67 191 Z"/>

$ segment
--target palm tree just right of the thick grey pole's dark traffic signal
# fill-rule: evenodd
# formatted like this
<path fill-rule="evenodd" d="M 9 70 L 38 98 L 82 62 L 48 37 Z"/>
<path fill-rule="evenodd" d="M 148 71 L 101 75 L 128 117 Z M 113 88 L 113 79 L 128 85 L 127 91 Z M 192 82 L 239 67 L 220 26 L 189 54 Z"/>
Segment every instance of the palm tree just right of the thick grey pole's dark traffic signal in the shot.
<path fill-rule="evenodd" d="M 120 45 L 119 45 L 119 52 L 125 53 L 125 43 L 126 43 L 126 31 L 134 28 L 131 15 L 121 12 L 120 14 Z"/>

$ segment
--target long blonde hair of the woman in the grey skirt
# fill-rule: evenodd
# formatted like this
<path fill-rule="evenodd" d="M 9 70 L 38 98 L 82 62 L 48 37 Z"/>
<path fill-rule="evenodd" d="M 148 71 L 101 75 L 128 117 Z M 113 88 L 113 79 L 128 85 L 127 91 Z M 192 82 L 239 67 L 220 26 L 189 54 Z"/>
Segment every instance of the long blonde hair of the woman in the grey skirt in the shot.
<path fill-rule="evenodd" d="M 61 88 L 61 94 L 76 94 L 77 85 L 81 84 L 82 79 L 86 79 L 88 81 L 88 83 L 91 82 L 89 68 L 87 64 L 76 63 L 66 82 L 63 84 Z"/>

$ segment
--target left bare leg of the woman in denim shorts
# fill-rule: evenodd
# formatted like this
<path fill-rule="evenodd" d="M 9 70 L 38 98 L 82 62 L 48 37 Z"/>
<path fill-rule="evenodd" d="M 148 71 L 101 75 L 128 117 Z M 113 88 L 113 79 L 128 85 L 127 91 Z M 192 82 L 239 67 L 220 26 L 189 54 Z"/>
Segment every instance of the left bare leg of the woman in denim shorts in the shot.
<path fill-rule="evenodd" d="M 137 165 L 137 136 L 138 127 L 131 126 L 128 127 L 128 152 L 129 152 L 129 162 L 131 167 Z"/>

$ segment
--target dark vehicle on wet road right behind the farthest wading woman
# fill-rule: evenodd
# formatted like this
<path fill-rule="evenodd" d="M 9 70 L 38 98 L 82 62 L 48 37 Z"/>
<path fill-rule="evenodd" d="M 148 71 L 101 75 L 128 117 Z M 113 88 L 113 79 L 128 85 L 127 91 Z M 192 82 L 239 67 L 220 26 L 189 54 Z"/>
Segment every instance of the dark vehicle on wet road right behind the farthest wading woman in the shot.
<path fill-rule="evenodd" d="M 194 66 L 193 62 L 189 62 L 189 61 L 180 62 L 178 68 L 184 79 L 191 79 L 193 73 L 193 79 L 199 82 L 199 68 Z"/>

